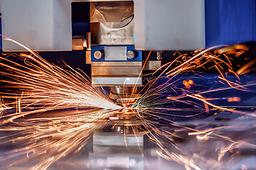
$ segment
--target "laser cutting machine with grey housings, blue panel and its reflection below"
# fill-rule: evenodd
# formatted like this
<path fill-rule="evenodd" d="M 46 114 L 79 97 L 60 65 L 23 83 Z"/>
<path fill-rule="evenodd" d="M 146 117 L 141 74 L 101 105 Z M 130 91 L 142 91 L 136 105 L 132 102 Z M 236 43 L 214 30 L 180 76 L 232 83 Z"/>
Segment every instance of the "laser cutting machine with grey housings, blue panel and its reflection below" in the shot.
<path fill-rule="evenodd" d="M 105 86 L 110 98 L 129 108 L 150 79 L 144 75 L 175 60 L 169 57 L 174 52 L 241 43 L 254 47 L 256 1 L 1 0 L 1 35 L 3 52 L 26 51 L 5 40 L 11 38 L 43 57 L 61 54 L 90 74 L 92 86 Z M 246 100 L 256 106 L 255 96 Z M 131 129 L 139 120 L 129 110 L 117 117 L 122 123 L 113 120 L 112 130 L 93 135 L 93 169 L 144 169 L 146 135 L 137 129 L 134 136 Z M 156 151 L 146 150 L 152 158 Z"/>

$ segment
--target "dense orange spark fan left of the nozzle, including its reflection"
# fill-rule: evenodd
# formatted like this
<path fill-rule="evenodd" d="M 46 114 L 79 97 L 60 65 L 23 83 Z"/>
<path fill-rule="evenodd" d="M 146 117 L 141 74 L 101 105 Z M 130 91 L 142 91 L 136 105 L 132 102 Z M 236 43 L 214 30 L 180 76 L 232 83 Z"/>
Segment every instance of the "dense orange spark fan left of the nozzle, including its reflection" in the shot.
<path fill-rule="evenodd" d="M 1 130 L 14 132 L 1 140 L 8 143 L 11 138 L 11 142 L 21 146 L 0 157 L 1 169 L 31 157 L 43 157 L 32 169 L 47 169 L 66 154 L 82 149 L 92 132 L 105 127 L 106 119 L 122 108 L 108 97 L 107 91 L 92 87 L 82 72 L 68 65 L 63 69 L 50 64 L 36 52 L 24 48 L 31 54 L 0 57 L 4 69 L 0 73 L 6 77 L 1 81 L 11 84 L 11 92 L 1 92 L 11 102 L 1 109 L 16 108 L 16 112 L 12 109 L 1 115 Z M 72 111 L 72 108 L 78 110 L 72 115 L 45 116 L 47 111 Z"/>

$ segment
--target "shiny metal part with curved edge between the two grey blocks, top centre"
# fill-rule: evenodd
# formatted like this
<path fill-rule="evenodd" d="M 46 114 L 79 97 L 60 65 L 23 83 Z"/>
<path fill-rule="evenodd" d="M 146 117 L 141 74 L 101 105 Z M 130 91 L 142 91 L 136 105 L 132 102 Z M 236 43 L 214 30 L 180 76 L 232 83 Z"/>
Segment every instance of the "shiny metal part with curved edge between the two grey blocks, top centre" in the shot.
<path fill-rule="evenodd" d="M 133 1 L 91 2 L 92 45 L 133 45 Z"/>

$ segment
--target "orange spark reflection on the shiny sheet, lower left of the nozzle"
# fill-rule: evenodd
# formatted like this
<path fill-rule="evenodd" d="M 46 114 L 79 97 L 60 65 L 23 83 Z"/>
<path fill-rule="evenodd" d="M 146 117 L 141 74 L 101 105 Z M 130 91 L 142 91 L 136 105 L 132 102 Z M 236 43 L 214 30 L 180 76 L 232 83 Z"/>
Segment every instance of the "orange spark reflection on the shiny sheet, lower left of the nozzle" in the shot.
<path fill-rule="evenodd" d="M 72 115 L 68 115 L 72 113 Z M 6 138 L 6 143 L 14 142 L 19 149 L 6 152 L 0 157 L 1 168 L 35 160 L 31 169 L 47 169 L 60 158 L 80 152 L 86 147 L 92 132 L 101 130 L 107 118 L 114 114 L 108 110 L 69 111 L 67 115 L 53 117 L 24 118 L 9 123 L 0 130 L 18 133 Z M 3 138 L 3 137 L 2 137 Z M 20 158 L 20 159 L 17 159 Z"/>

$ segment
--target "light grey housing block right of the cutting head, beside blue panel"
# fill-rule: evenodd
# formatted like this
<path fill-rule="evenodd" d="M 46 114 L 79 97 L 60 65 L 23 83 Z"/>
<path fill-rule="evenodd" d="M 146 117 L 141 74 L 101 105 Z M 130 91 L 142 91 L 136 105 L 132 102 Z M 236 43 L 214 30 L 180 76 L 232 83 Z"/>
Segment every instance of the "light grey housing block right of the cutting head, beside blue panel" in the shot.
<path fill-rule="evenodd" d="M 205 47 L 203 0 L 134 0 L 136 50 Z"/>

